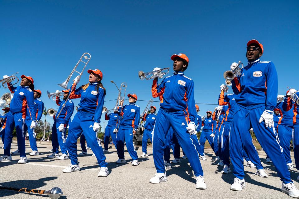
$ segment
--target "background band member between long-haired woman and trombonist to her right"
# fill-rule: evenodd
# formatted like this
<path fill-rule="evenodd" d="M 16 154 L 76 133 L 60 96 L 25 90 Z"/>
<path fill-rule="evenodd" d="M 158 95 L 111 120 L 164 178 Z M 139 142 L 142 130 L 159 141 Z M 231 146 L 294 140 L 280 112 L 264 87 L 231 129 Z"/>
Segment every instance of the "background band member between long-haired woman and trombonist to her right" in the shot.
<path fill-rule="evenodd" d="M 113 133 L 113 130 L 116 127 L 116 123 L 117 123 L 117 120 L 119 117 L 120 117 L 120 113 L 118 111 L 114 111 L 113 113 L 110 113 L 109 115 L 107 115 L 107 113 L 105 114 L 105 120 L 108 120 L 108 124 L 105 129 L 105 135 L 104 135 L 104 153 L 108 152 L 108 144 L 109 144 L 110 136 L 112 138 L 115 149 L 117 149 L 116 133 Z"/>

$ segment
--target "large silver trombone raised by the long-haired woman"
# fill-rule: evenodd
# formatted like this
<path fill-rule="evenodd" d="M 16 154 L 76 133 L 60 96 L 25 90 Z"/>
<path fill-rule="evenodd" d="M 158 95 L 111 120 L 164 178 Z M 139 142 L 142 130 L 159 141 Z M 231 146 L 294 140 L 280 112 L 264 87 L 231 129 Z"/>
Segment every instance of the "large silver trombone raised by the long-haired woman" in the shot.
<path fill-rule="evenodd" d="M 87 59 L 87 62 L 83 62 L 83 61 L 82 61 L 82 58 L 83 58 L 83 57 L 84 57 L 84 59 Z M 74 72 L 78 72 L 78 71 L 76 71 L 76 69 L 77 69 L 79 63 L 80 63 L 80 62 L 83 62 L 83 63 L 85 63 L 84 67 L 83 67 L 83 69 L 82 69 L 81 72 L 78 72 L 78 73 L 79 73 L 79 79 L 80 79 L 81 76 L 82 76 L 82 74 L 83 74 L 83 71 L 84 71 L 84 69 L 86 68 L 86 66 L 87 66 L 88 62 L 90 61 L 90 59 L 91 59 L 91 55 L 90 55 L 89 53 L 83 53 L 83 55 L 81 56 L 81 58 L 80 58 L 79 61 L 77 62 L 76 66 L 75 66 L 74 69 L 72 70 L 72 72 L 71 72 L 71 74 L 69 75 L 69 77 L 68 77 L 62 84 L 59 84 L 59 86 L 62 86 L 62 87 L 64 87 L 64 88 L 67 88 L 68 83 L 69 83 L 69 80 L 70 80 L 70 78 L 72 77 L 72 75 L 74 74 Z M 74 88 L 75 88 L 76 85 L 77 85 L 77 83 L 74 83 L 72 89 L 69 91 L 69 95 L 68 95 L 68 97 L 65 99 L 65 102 L 64 102 L 64 104 L 62 105 L 62 108 L 60 109 L 60 111 L 59 111 L 59 113 L 58 113 L 58 115 L 57 115 L 57 118 L 59 118 L 59 115 L 60 115 L 61 111 L 62 111 L 63 108 L 65 107 L 65 104 L 66 104 L 66 102 L 68 101 L 69 96 L 70 96 L 71 93 L 73 92 L 73 90 L 74 90 Z"/>

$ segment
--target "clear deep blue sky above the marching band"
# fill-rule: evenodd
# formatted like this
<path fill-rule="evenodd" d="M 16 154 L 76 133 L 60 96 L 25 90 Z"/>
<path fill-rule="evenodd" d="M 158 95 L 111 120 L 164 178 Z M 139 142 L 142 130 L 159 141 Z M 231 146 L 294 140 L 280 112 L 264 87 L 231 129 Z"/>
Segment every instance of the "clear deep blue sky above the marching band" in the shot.
<path fill-rule="evenodd" d="M 299 89 L 298 13 L 298 1 L 0 1 L 1 77 L 32 76 L 46 108 L 58 108 L 46 90 L 60 90 L 57 83 L 88 52 L 87 68 L 103 72 L 105 100 L 118 94 L 110 80 L 149 100 L 152 81 L 141 81 L 138 71 L 172 67 L 170 56 L 185 53 L 196 103 L 215 104 L 223 72 L 232 62 L 247 63 L 246 43 L 257 39 L 284 95 L 287 86 Z M 80 84 L 87 82 L 86 70 Z M 137 104 L 142 111 L 146 102 Z M 115 101 L 104 105 L 112 109 Z M 200 114 L 215 106 L 199 104 Z"/>

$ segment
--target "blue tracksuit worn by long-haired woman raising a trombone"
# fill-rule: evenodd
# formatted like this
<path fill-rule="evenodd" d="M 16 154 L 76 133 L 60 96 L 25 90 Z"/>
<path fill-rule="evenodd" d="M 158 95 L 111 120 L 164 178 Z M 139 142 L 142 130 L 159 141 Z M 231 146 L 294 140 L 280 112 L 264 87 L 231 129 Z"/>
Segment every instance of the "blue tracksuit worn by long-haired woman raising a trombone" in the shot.
<path fill-rule="evenodd" d="M 73 85 L 74 86 L 74 85 Z M 71 90 L 71 89 L 70 89 Z M 93 130 L 95 122 L 101 122 L 102 109 L 104 105 L 104 89 L 98 86 L 98 83 L 89 83 L 88 87 L 83 90 L 80 86 L 70 93 L 70 98 L 80 98 L 78 112 L 69 126 L 68 139 L 66 146 L 69 151 L 71 164 L 78 164 L 77 157 L 77 140 L 83 133 L 87 143 L 97 158 L 100 167 L 107 167 L 100 139 L 97 138 L 97 132 Z"/>

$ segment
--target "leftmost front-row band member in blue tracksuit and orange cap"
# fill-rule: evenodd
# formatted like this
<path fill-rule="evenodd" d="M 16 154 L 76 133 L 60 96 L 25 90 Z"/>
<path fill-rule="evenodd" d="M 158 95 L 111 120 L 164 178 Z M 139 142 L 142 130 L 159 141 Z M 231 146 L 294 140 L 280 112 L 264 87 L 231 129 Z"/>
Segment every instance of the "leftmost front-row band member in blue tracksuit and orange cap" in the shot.
<path fill-rule="evenodd" d="M 3 76 L 6 78 L 8 76 Z M 33 78 L 31 76 L 21 76 L 22 80 L 20 86 L 14 87 L 11 83 L 7 83 L 11 93 L 14 93 L 12 101 L 10 103 L 10 111 L 7 114 L 6 127 L 5 127 L 5 140 L 4 140 L 4 155 L 0 158 L 0 161 L 11 161 L 12 156 L 10 154 L 12 143 L 12 131 L 14 127 L 17 130 L 18 149 L 20 151 L 20 160 L 18 164 L 27 163 L 25 154 L 25 133 L 27 126 L 25 125 L 25 119 L 27 115 L 31 117 L 30 128 L 36 127 L 36 115 L 34 106 L 34 85 Z M 28 106 L 28 109 L 27 109 Z"/>

